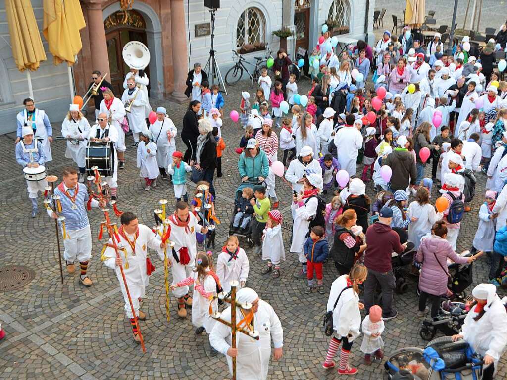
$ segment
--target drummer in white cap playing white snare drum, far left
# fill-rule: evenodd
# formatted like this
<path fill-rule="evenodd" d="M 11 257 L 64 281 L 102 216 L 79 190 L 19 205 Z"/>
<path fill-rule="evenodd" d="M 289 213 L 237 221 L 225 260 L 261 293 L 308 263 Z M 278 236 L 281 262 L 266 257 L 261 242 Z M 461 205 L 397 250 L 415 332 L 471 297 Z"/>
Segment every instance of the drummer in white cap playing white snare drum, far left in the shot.
<path fill-rule="evenodd" d="M 33 138 L 31 127 L 22 127 L 20 135 L 23 139 L 16 144 L 16 161 L 23 167 L 23 173 L 25 173 L 25 178 L 27 178 L 28 198 L 30 198 L 32 203 L 31 215 L 34 218 L 39 212 L 39 208 L 37 207 L 38 193 L 44 193 L 48 185 L 46 181 L 46 168 L 44 167 L 46 156 L 38 138 Z"/>

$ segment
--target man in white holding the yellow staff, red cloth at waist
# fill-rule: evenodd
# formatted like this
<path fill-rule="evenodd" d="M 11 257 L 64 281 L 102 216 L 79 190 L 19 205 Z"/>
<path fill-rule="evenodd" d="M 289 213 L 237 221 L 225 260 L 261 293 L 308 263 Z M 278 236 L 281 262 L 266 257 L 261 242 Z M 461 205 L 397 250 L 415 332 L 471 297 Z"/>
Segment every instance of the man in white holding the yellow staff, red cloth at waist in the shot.
<path fill-rule="evenodd" d="M 189 213 L 188 204 L 179 201 L 176 203 L 174 214 L 169 216 L 169 228 L 171 231 L 169 239 L 174 243 L 172 256 L 170 257 L 171 285 L 176 285 L 189 277 L 194 268 L 194 260 L 197 255 L 195 233 L 207 234 L 208 227 L 197 224 L 195 215 Z M 172 292 L 178 298 L 178 317 L 185 318 L 187 316 L 185 304 L 192 306 L 192 297 L 188 294 L 189 287 L 175 288 Z"/>

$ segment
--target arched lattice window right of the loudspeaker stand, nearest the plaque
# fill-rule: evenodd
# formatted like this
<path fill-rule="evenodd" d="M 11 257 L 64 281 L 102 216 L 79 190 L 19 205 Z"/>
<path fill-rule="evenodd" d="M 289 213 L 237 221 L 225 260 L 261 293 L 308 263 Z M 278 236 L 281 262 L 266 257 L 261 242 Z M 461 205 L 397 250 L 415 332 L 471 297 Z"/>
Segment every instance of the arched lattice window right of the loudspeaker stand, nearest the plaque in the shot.
<path fill-rule="evenodd" d="M 248 8 L 239 16 L 236 25 L 236 48 L 244 45 L 264 46 L 266 41 L 266 20 L 258 8 Z"/>

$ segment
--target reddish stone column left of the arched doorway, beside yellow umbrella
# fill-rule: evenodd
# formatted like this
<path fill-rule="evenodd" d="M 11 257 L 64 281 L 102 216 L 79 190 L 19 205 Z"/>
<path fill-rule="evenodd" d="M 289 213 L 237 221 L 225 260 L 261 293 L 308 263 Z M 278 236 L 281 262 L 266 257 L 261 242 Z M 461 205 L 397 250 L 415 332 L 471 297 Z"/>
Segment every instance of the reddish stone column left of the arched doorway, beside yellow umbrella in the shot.
<path fill-rule="evenodd" d="M 102 0 L 88 0 L 84 3 L 86 4 L 88 14 L 87 26 L 92 59 L 92 67 L 90 67 L 90 69 L 99 70 L 102 75 L 104 75 L 106 72 L 109 72 L 109 57 L 107 55 L 104 20 L 102 16 L 102 9 L 105 3 Z M 111 82 L 110 75 L 108 75 L 106 79 L 108 82 Z"/>

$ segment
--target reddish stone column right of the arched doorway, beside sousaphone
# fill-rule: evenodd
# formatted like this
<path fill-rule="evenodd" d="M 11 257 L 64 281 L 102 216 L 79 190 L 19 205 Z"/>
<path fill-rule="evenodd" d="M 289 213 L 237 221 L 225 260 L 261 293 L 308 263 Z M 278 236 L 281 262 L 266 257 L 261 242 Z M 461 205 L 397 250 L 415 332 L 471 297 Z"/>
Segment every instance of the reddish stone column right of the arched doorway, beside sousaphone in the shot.
<path fill-rule="evenodd" d="M 185 81 L 187 80 L 187 33 L 185 24 L 185 8 L 183 0 L 171 0 L 171 34 L 172 34 L 172 69 L 174 78 L 174 91 L 171 98 L 179 103 L 188 101 L 185 96 Z"/>

